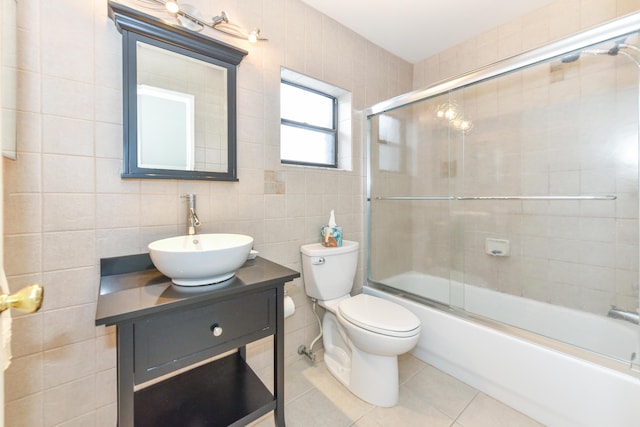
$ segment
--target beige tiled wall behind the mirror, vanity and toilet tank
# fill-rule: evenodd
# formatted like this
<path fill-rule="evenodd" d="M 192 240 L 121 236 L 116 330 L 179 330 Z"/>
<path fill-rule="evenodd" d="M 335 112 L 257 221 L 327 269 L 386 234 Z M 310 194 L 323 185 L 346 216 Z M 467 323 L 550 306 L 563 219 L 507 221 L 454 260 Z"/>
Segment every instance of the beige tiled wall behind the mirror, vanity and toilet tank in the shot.
<path fill-rule="evenodd" d="M 190 3 L 208 15 L 225 10 L 269 38 L 249 46 L 215 34 L 249 51 L 238 76 L 237 183 L 121 179 L 121 36 L 106 0 L 18 2 L 19 141 L 18 160 L 4 161 L 5 268 L 14 291 L 43 283 L 45 301 L 36 314 L 14 314 L 9 426 L 115 425 L 114 329 L 94 326 L 99 260 L 184 233 L 180 195 L 197 195 L 201 232 L 252 235 L 262 256 L 298 271 L 299 246 L 318 241 L 331 209 L 345 238 L 364 239 L 358 110 L 410 90 L 412 65 L 298 0 Z M 352 92 L 351 170 L 280 165 L 281 66 Z M 290 361 L 317 324 L 302 281 L 287 291 L 297 305 L 285 322 Z M 257 369 L 269 365 L 270 342 L 249 351 Z"/>

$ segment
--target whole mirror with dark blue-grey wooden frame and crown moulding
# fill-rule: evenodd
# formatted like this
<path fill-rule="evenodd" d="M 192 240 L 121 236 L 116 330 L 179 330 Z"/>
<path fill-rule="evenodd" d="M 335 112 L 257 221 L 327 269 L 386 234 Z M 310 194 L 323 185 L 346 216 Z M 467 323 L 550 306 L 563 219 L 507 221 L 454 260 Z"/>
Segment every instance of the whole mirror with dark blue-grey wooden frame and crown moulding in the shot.
<path fill-rule="evenodd" d="M 122 34 L 123 178 L 236 181 L 246 51 L 109 2 Z"/>

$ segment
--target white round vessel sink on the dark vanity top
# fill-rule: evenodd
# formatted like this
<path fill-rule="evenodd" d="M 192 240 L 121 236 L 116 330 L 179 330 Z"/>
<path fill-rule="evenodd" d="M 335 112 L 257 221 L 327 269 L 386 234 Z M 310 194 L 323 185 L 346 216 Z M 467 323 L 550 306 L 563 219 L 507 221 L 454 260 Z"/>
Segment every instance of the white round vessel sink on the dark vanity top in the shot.
<path fill-rule="evenodd" d="M 149 255 L 156 268 L 180 286 L 202 286 L 232 278 L 249 256 L 253 237 L 196 234 L 156 240 Z"/>

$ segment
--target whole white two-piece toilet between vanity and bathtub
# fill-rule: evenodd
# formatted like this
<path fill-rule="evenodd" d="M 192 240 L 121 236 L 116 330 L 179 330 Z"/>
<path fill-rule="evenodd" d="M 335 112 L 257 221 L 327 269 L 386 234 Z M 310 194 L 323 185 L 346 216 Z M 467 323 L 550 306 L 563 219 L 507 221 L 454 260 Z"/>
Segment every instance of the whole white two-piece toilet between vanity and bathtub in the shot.
<path fill-rule="evenodd" d="M 324 360 L 353 394 L 376 406 L 398 402 L 398 355 L 418 342 L 420 319 L 398 304 L 371 295 L 351 297 L 358 243 L 303 245 L 302 274 L 311 298 L 327 311 L 322 321 Z"/>

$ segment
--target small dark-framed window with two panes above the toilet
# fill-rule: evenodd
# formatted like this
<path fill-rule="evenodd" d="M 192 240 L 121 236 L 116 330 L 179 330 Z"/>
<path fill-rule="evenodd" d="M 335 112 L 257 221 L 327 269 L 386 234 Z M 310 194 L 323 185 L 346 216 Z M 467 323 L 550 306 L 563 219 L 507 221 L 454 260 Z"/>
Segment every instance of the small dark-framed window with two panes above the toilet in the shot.
<path fill-rule="evenodd" d="M 280 160 L 286 164 L 338 167 L 338 99 L 282 80 Z"/>

